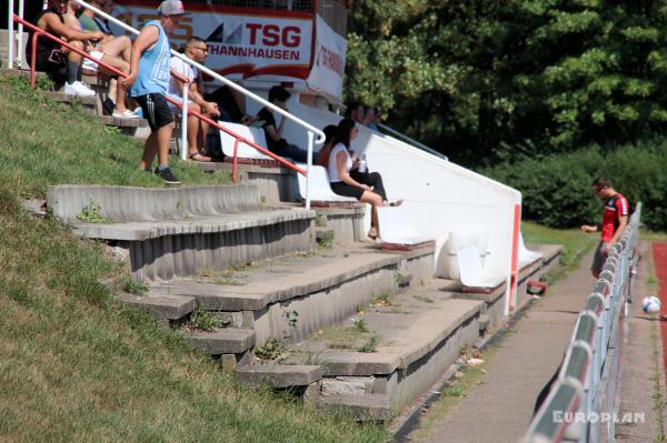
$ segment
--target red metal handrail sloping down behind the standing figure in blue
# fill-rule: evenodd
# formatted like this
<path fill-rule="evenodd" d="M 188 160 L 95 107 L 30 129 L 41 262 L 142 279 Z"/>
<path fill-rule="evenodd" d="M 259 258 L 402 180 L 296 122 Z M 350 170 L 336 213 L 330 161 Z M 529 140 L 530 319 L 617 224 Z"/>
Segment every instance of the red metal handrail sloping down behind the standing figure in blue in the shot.
<path fill-rule="evenodd" d="M 93 59 L 93 58 L 92 58 L 90 54 L 88 54 L 86 51 L 83 51 L 83 50 L 81 50 L 81 49 L 79 49 L 79 48 L 76 48 L 76 47 L 73 47 L 73 46 L 69 44 L 69 43 L 68 43 L 68 42 L 66 42 L 64 40 L 62 40 L 62 39 L 60 39 L 60 38 L 58 38 L 58 37 L 53 36 L 53 34 L 51 34 L 50 32 L 48 32 L 48 31 L 44 31 L 43 29 L 41 29 L 41 28 L 38 28 L 38 27 L 36 27 L 34 24 L 32 24 L 32 23 L 30 23 L 30 22 L 28 22 L 28 21 L 26 21 L 26 20 L 21 19 L 21 18 L 20 18 L 20 17 L 18 17 L 17 14 L 13 14 L 13 16 L 12 16 L 12 20 L 13 20 L 13 21 L 16 21 L 16 22 L 22 23 L 23 26 L 26 26 L 26 27 L 28 27 L 28 28 L 32 29 L 32 31 L 34 32 L 34 33 L 32 34 L 32 49 L 31 49 L 31 53 L 32 53 L 32 60 L 33 60 L 33 62 L 31 63 L 31 67 L 30 67 L 30 87 L 31 87 L 31 88 L 33 88 L 33 89 L 34 89 L 36 77 L 37 77 L 37 70 L 36 70 L 36 68 L 34 68 L 34 59 L 36 59 L 36 57 L 37 57 L 37 40 L 38 40 L 40 37 L 42 37 L 42 36 L 43 36 L 43 37 L 47 37 L 47 38 L 48 38 L 48 39 L 50 39 L 50 40 L 53 40 L 53 41 L 58 42 L 59 44 L 62 44 L 63 47 L 68 48 L 70 51 L 74 51 L 76 53 L 78 53 L 79 56 L 81 56 L 81 57 L 83 57 L 83 58 L 87 58 L 87 59 L 89 59 L 89 60 L 91 60 L 91 61 L 94 61 L 94 62 L 96 62 L 97 64 L 99 64 L 100 67 L 102 67 L 102 68 L 104 68 L 104 69 L 108 69 L 109 71 L 113 72 L 115 74 L 117 74 L 117 75 L 119 75 L 119 77 L 122 77 L 122 78 L 126 78 L 126 77 L 128 77 L 128 75 L 127 75 L 125 72 L 122 72 L 122 71 L 120 71 L 120 70 L 118 70 L 118 69 L 116 69 L 116 68 L 113 68 L 113 67 L 111 67 L 111 66 L 109 66 L 109 64 L 104 63 L 104 62 L 103 62 L 103 61 L 101 61 L 101 60 L 96 60 L 96 59 Z M 177 107 L 179 107 L 179 108 L 182 108 L 182 104 L 181 104 L 180 102 L 178 102 L 177 100 L 173 100 L 173 99 L 172 99 L 172 98 L 170 98 L 170 97 L 166 97 L 166 99 L 167 99 L 169 102 L 171 102 L 171 103 L 176 104 Z M 220 130 L 222 130 L 222 131 L 227 132 L 228 134 L 230 134 L 231 137 L 233 137 L 233 138 L 236 138 L 236 139 L 237 139 L 237 143 L 238 143 L 238 142 L 246 143 L 246 144 L 248 144 L 248 145 L 250 145 L 250 147 L 252 147 L 252 148 L 257 149 L 258 151 L 262 152 L 263 154 L 266 154 L 266 155 L 269 155 L 270 158 L 272 158 L 273 160 L 278 161 L 279 163 L 281 163 L 281 164 L 283 164 L 283 165 L 288 167 L 288 168 L 291 168 L 291 169 L 293 169 L 295 171 L 297 171 L 297 172 L 299 172 L 299 173 L 301 173 L 301 174 L 305 174 L 305 175 L 307 174 L 307 172 L 306 172 L 306 171 L 303 171 L 303 169 L 301 169 L 301 168 L 299 168 L 299 167 L 297 167 L 297 165 L 295 165 L 295 164 L 292 164 L 292 163 L 288 162 L 287 160 L 282 159 L 280 155 L 277 155 L 277 154 L 275 154 L 275 153 L 270 152 L 269 150 L 267 150 L 267 149 L 265 149 L 265 148 L 262 148 L 262 147 L 260 147 L 260 145 L 256 144 L 255 142 L 252 142 L 252 141 L 250 141 L 250 140 L 248 140 L 248 139 L 246 139 L 246 138 L 243 138 L 243 137 L 241 137 L 241 135 L 238 135 L 238 134 L 233 133 L 232 131 L 230 131 L 230 130 L 228 130 L 227 128 L 222 127 L 222 125 L 221 125 L 221 124 L 219 124 L 218 122 L 216 122 L 216 121 L 211 120 L 211 119 L 210 119 L 210 118 L 208 118 L 207 115 L 203 115 L 203 114 L 201 114 L 201 113 L 199 113 L 199 112 L 197 112 L 197 111 L 192 111 L 192 110 L 188 110 L 187 112 L 191 113 L 192 115 L 197 115 L 197 117 L 198 117 L 200 120 L 203 120 L 203 121 L 206 121 L 207 123 L 209 123 L 209 124 L 213 125 L 215 128 L 218 128 L 218 129 L 220 129 Z M 236 160 L 236 159 L 235 159 L 235 160 Z M 236 164 L 236 162 L 235 162 L 235 164 Z"/>

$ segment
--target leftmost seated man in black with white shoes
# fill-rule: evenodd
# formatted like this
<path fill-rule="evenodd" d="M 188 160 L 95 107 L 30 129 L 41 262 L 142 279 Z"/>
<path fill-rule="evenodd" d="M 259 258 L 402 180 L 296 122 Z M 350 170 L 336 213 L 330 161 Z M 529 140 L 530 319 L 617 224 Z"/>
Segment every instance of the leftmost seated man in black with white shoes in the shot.
<path fill-rule="evenodd" d="M 102 32 L 87 32 L 73 29 L 64 23 L 69 0 L 49 0 L 48 8 L 34 19 L 34 24 L 44 31 L 67 40 L 77 49 L 83 50 L 83 41 L 102 40 Z M 38 71 L 48 72 L 54 81 L 64 82 L 62 92 L 80 97 L 92 97 L 94 91 L 81 82 L 81 59 L 74 51 L 61 47 L 59 43 L 41 37 L 37 40 L 37 53 L 32 59 L 32 31 L 29 31 L 26 60 Z M 33 64 L 34 63 L 34 64 Z"/>

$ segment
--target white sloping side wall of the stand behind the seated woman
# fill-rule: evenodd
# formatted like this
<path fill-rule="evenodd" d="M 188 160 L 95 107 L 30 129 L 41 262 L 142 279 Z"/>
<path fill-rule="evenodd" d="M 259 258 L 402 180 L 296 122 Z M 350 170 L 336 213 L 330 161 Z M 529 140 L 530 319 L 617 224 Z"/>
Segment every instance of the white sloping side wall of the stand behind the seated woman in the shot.
<path fill-rule="evenodd" d="M 341 119 L 305 107 L 296 97 L 288 107 L 320 129 Z M 249 111 L 253 108 L 249 105 Z M 292 122 L 286 123 L 283 137 L 307 147 L 305 130 Z M 490 251 L 485 266 L 506 272 L 509 283 L 514 207 L 521 203 L 518 191 L 361 125 L 352 148 L 358 155 L 366 153 L 370 171 L 382 174 L 389 199 L 405 199 L 412 229 L 436 240 L 437 275 L 449 276 L 446 246 L 450 232 L 484 232 L 489 234 Z M 368 218 L 366 223 L 368 229 Z"/>

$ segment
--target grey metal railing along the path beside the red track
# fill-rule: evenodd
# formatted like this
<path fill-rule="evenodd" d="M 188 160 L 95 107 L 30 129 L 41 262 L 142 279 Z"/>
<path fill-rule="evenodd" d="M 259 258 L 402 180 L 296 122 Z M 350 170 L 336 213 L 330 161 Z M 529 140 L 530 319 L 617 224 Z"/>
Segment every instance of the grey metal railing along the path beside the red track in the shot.
<path fill-rule="evenodd" d="M 641 203 L 637 204 L 621 239 L 609 251 L 600 279 L 594 285 L 594 293 L 586 301 L 586 310 L 579 314 L 570 344 L 564 358 L 558 381 L 551 387 L 547 400 L 526 432 L 524 442 L 546 443 L 560 442 L 564 437 L 577 442 L 599 441 L 601 432 L 599 416 L 597 421 L 589 413 L 616 413 L 618 405 L 610 403 L 603 411 L 600 399 L 615 399 L 618 385 L 618 368 L 621 356 L 615 340 L 619 336 L 620 319 L 625 315 L 624 306 L 631 300 L 629 282 L 633 279 L 633 256 L 638 241 Z M 597 323 L 597 324 L 595 324 Z M 616 369 L 613 369 L 616 368 Z M 613 371 L 616 371 L 613 372 Z M 573 376 L 581 383 L 579 393 L 565 389 L 564 379 L 569 382 Z M 555 402 L 556 397 L 559 402 Z M 579 400 L 576 410 L 583 413 L 584 422 L 556 422 L 558 413 L 565 411 L 566 404 Z M 591 420 L 587 422 L 587 420 Z M 607 436 L 614 435 L 614 423 L 606 429 Z"/>

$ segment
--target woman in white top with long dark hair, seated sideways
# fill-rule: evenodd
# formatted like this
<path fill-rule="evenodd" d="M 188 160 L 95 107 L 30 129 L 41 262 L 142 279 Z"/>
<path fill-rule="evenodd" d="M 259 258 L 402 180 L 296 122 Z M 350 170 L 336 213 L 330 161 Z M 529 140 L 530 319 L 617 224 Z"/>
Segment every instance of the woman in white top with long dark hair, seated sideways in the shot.
<path fill-rule="evenodd" d="M 379 235 L 377 208 L 385 207 L 386 203 L 380 194 L 372 191 L 371 187 L 359 183 L 350 177 L 354 162 L 349 149 L 351 141 L 357 138 L 357 133 L 358 130 L 354 120 L 342 119 L 338 123 L 334 148 L 329 154 L 329 182 L 331 190 L 338 195 L 354 197 L 360 202 L 371 205 L 372 226 L 368 231 L 368 236 L 375 240 Z"/>

